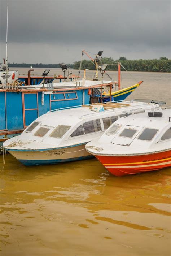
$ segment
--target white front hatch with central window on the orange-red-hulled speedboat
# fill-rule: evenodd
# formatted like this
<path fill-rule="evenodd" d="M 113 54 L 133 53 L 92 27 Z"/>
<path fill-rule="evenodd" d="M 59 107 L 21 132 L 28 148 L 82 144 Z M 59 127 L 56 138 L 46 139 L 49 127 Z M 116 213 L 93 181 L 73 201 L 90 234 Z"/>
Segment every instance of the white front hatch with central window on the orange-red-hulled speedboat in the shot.
<path fill-rule="evenodd" d="M 143 127 L 125 125 L 111 141 L 112 144 L 129 146 Z"/>

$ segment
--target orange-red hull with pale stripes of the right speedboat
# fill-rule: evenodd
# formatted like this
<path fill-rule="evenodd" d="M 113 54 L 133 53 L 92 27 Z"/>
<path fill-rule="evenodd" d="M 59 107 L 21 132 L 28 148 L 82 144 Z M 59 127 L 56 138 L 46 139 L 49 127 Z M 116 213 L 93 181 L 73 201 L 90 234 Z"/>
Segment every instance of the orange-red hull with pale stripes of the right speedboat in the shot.
<path fill-rule="evenodd" d="M 115 176 L 144 173 L 171 166 L 171 150 L 145 155 L 95 157 Z"/>

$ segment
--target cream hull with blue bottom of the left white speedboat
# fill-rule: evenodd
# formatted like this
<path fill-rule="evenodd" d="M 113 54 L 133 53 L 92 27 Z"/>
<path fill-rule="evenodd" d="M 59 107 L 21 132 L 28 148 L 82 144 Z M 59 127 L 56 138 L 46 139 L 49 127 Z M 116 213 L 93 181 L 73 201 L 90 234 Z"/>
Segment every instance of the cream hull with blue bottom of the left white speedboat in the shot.
<path fill-rule="evenodd" d="M 26 166 L 57 164 L 92 158 L 93 156 L 86 151 L 85 145 L 86 143 L 43 150 L 9 149 L 9 153 Z"/>

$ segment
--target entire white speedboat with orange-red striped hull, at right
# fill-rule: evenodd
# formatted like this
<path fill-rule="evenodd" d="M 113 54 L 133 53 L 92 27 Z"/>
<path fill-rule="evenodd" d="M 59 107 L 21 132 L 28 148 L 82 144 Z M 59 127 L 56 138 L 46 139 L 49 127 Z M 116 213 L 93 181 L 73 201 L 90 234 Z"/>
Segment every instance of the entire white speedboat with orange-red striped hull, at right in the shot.
<path fill-rule="evenodd" d="M 116 176 L 169 167 L 171 109 L 120 118 L 86 150 Z"/>

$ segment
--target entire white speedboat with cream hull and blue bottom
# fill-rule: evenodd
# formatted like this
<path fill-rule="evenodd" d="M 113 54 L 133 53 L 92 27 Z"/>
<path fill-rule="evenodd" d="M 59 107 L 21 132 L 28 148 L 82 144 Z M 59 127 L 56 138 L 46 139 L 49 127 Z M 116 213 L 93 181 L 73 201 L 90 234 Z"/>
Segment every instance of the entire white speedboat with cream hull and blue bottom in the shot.
<path fill-rule="evenodd" d="M 118 118 L 161 109 L 156 103 L 123 101 L 52 110 L 32 122 L 21 135 L 3 143 L 24 165 L 56 164 L 92 157 L 85 149 Z"/>

